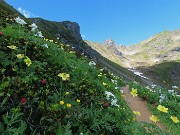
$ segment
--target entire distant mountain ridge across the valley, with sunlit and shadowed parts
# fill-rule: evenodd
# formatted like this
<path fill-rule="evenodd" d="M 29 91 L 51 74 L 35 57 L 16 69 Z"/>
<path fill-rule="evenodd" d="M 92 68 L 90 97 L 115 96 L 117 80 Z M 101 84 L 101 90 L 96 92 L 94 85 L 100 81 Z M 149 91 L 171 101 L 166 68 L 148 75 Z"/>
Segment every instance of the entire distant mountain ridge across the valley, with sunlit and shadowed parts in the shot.
<path fill-rule="evenodd" d="M 110 41 L 110 43 L 113 43 L 112 47 L 108 47 L 107 41 L 105 42 L 106 44 L 90 41 L 86 41 L 86 43 L 102 56 L 120 66 L 130 69 L 136 68 L 137 71 L 151 77 L 149 79 L 157 82 L 160 86 L 170 88 L 170 85 L 178 85 L 180 87 L 180 80 L 178 78 L 173 79 L 174 75 L 171 74 L 172 71 L 175 71 L 173 72 L 175 76 L 180 76 L 180 71 L 177 70 L 178 65 L 180 65 L 180 30 L 160 32 L 132 46 L 118 46 L 114 41 Z M 123 57 L 119 57 L 114 52 L 114 48 Z M 169 65 L 171 62 L 172 65 Z M 173 64 L 173 62 L 177 64 Z M 165 66 L 166 64 L 167 66 Z M 168 67 L 165 68 L 167 72 L 166 76 L 163 75 L 163 67 Z M 159 73 L 155 70 L 158 70 Z M 160 77 L 157 78 L 157 75 Z M 163 83 L 164 80 L 171 83 L 166 86 Z"/>

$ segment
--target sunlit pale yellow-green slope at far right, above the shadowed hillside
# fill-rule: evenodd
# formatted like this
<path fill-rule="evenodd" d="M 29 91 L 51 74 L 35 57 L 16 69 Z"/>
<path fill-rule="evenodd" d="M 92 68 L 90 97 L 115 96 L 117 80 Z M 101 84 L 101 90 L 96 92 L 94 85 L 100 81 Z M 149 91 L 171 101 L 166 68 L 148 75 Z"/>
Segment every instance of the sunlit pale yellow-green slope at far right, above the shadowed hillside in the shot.
<path fill-rule="evenodd" d="M 179 31 L 161 32 L 139 44 L 129 46 L 125 49 L 126 57 L 135 62 L 142 63 L 142 66 L 152 66 L 158 62 L 180 60 L 180 53 L 172 51 L 180 46 Z M 120 47 L 120 50 L 123 48 Z M 134 51 L 134 54 L 128 54 Z M 135 63 L 132 63 L 137 66 Z"/>

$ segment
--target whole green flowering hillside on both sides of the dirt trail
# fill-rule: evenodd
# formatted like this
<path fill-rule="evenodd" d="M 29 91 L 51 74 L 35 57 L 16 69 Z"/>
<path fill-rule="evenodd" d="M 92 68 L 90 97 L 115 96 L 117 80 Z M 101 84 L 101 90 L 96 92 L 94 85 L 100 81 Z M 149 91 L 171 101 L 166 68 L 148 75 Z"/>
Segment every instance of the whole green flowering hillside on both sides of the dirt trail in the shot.
<path fill-rule="evenodd" d="M 22 17 L 4 1 L 0 7 L 0 134 L 179 134 L 179 122 L 171 118 L 180 118 L 180 97 L 163 89 L 147 92 L 129 81 L 132 72 L 93 51 L 97 55 L 94 62 L 72 46 L 72 31 L 66 31 L 62 40 L 67 36 L 67 42 L 62 42 L 49 36 L 52 22 L 32 25 L 32 19 Z M 136 121 L 120 92 L 125 85 L 138 89 L 138 96 L 147 100 L 167 130 Z M 166 99 L 159 102 L 162 94 Z M 158 104 L 168 107 L 168 113 L 159 112 Z"/>

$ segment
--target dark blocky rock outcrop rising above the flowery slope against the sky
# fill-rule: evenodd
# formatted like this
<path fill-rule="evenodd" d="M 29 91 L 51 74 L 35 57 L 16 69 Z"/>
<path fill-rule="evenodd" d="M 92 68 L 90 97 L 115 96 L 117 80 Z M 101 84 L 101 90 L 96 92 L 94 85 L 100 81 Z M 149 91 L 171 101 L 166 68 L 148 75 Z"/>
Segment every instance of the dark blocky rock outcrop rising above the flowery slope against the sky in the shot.
<path fill-rule="evenodd" d="M 54 22 L 44 20 L 42 18 L 31 18 L 31 20 L 39 25 L 46 34 L 52 34 L 62 42 L 81 42 L 80 26 L 76 22 L 63 21 Z"/>

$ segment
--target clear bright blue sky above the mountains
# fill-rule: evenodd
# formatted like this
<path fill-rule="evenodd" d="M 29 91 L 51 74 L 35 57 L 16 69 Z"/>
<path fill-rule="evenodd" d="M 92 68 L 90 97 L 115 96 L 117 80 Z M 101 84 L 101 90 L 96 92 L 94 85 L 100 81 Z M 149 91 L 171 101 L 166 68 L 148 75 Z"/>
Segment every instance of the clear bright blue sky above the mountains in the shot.
<path fill-rule="evenodd" d="M 30 16 L 73 21 L 83 38 L 132 45 L 180 28 L 180 0 L 5 0 Z"/>

